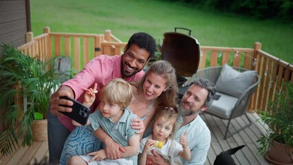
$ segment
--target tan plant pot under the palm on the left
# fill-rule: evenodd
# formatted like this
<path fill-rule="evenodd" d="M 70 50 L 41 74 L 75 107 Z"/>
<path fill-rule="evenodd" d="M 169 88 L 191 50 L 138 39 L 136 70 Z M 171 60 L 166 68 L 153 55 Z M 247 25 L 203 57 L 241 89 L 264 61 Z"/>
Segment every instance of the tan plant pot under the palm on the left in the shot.
<path fill-rule="evenodd" d="M 35 141 L 47 141 L 47 119 L 34 120 L 34 124 L 32 124 L 32 136 Z"/>

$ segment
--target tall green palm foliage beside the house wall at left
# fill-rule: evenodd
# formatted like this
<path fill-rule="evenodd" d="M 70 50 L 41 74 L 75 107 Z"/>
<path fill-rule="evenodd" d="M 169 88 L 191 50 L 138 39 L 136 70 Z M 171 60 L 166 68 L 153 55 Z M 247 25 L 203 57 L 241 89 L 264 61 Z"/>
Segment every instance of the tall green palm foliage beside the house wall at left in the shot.
<path fill-rule="evenodd" d="M 15 144 L 19 145 L 19 137 L 23 137 L 22 146 L 32 145 L 32 126 L 36 120 L 47 119 L 50 94 L 60 83 L 54 76 L 52 58 L 41 60 L 22 54 L 10 45 L 2 47 L 0 107 L 5 111 L 1 119 L 4 130 L 0 133 L 0 150 L 8 155 L 16 148 Z"/>

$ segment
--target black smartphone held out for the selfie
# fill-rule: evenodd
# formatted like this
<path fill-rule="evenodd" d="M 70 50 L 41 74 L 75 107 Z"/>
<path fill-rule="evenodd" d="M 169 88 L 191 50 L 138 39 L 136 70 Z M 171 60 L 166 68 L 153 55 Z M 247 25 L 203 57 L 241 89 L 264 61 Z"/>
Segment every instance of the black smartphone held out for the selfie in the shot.
<path fill-rule="evenodd" d="M 77 100 L 74 100 L 67 96 L 61 96 L 60 98 L 71 100 L 72 102 L 74 102 L 72 106 L 60 104 L 60 106 L 72 108 L 71 112 L 60 111 L 61 113 L 63 113 L 64 115 L 67 115 L 69 118 L 71 118 L 72 120 L 75 120 L 79 124 L 82 124 L 82 125 L 87 124 L 87 119 L 89 118 L 89 113 L 90 113 L 90 110 L 88 107 L 85 107 L 83 104 L 81 104 Z"/>

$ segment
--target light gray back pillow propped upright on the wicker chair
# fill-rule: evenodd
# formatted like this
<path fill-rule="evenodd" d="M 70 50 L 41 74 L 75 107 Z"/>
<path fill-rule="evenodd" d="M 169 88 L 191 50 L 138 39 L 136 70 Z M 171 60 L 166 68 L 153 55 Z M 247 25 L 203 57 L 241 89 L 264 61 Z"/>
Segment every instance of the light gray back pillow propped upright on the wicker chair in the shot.
<path fill-rule="evenodd" d="M 256 71 L 238 72 L 225 64 L 217 79 L 216 87 L 221 93 L 239 98 L 253 84 Z"/>

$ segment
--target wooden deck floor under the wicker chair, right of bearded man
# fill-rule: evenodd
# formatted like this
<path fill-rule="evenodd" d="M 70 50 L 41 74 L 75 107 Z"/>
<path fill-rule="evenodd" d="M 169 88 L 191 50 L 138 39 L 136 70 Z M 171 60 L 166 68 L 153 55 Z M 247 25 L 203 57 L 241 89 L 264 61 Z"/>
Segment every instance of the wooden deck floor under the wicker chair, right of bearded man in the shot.
<path fill-rule="evenodd" d="M 213 164 L 216 155 L 219 155 L 221 151 L 226 151 L 229 148 L 234 148 L 243 144 L 246 144 L 246 146 L 237 151 L 235 155 L 232 155 L 236 164 L 269 164 L 263 156 L 257 155 L 258 143 L 256 141 L 261 137 L 261 133 L 265 133 L 265 128 L 256 121 L 256 118 L 259 117 L 256 113 L 248 113 L 248 118 L 253 122 L 250 127 L 236 133 L 232 137 L 228 137 L 227 140 L 224 140 L 224 134 L 228 120 L 221 120 L 208 113 L 201 113 L 200 115 L 208 125 L 212 135 L 208 159 L 205 164 Z M 248 120 L 244 116 L 243 118 L 236 118 L 231 121 L 232 125 L 230 124 L 229 130 L 234 131 L 235 129 L 239 129 L 241 125 L 245 125 L 246 123 L 248 123 Z"/>

